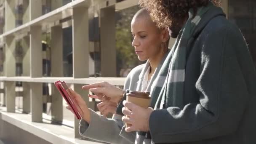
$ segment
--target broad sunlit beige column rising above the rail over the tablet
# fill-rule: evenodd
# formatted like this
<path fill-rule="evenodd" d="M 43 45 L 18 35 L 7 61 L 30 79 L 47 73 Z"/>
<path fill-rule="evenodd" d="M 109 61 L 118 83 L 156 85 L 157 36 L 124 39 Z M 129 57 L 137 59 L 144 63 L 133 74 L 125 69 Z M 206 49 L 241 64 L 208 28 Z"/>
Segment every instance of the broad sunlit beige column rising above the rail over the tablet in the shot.
<path fill-rule="evenodd" d="M 73 77 L 89 77 L 88 9 L 73 9 Z M 107 36 L 108 38 L 111 38 Z M 110 56 L 108 56 L 109 59 Z"/>

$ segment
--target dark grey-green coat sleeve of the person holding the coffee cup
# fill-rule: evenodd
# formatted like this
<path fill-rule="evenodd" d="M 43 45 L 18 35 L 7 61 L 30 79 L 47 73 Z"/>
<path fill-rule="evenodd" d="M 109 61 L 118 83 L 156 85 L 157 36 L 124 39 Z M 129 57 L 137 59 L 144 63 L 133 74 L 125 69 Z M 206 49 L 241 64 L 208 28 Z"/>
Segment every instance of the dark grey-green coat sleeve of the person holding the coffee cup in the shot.
<path fill-rule="evenodd" d="M 249 94 L 236 49 L 248 48 L 240 32 L 233 31 L 219 28 L 202 42 L 198 102 L 152 112 L 149 129 L 155 143 L 202 141 L 237 130 Z"/>

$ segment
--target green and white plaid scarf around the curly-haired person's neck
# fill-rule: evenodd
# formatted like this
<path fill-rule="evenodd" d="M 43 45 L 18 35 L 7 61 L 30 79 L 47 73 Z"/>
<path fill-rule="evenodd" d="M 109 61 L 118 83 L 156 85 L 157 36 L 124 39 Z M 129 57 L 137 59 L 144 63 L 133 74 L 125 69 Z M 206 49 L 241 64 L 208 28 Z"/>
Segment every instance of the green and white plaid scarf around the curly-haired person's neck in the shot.
<path fill-rule="evenodd" d="M 206 7 L 198 8 L 195 16 L 193 9 L 189 10 L 189 18 L 181 29 L 171 52 L 165 59 L 155 83 L 152 84 L 151 107 L 155 109 L 184 107 L 185 67 L 189 48 L 192 47 L 195 41 L 192 35 L 203 14 L 213 6 L 213 3 L 209 3 Z"/>

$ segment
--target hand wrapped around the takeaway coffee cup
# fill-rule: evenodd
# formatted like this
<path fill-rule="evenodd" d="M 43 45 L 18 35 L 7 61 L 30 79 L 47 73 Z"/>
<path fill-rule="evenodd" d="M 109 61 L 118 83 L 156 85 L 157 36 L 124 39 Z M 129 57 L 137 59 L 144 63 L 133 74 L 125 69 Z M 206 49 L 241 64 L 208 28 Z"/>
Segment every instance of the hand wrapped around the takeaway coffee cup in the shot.
<path fill-rule="evenodd" d="M 151 107 L 145 109 L 139 107 L 128 101 L 123 101 L 122 117 L 123 122 L 131 124 L 130 127 L 125 128 L 126 132 L 131 131 L 149 131 L 149 116 L 153 112 Z"/>

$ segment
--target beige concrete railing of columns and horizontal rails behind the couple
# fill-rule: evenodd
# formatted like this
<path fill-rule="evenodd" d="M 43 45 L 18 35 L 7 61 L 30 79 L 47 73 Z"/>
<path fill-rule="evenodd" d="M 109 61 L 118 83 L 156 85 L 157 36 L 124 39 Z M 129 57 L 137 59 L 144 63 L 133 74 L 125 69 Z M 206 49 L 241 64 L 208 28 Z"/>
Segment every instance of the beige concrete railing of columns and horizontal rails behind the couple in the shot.
<path fill-rule="evenodd" d="M 0 35 L 0 45 L 4 47 L 4 72 L 0 81 L 0 104 L 6 106 L 6 112 L 16 112 L 16 82 L 22 82 L 22 110 L 31 113 L 32 122 L 43 122 L 43 83 L 51 83 L 51 119 L 63 121 L 63 99 L 54 87 L 57 80 L 72 84 L 75 91 L 84 96 L 88 107 L 95 109 L 96 102 L 89 101 L 88 91 L 81 89 L 82 85 L 107 81 L 113 85 L 123 85 L 125 78 L 116 78 L 115 58 L 115 9 L 128 8 L 137 5 L 139 0 L 72 0 L 62 6 L 62 0 L 52 1 L 52 10 L 42 15 L 42 0 L 23 0 L 23 24 L 15 25 L 16 0 L 5 0 L 5 32 Z M 58 3 L 57 3 L 58 2 Z M 101 45 L 104 45 L 104 55 L 101 55 L 101 74 L 106 77 L 89 77 L 89 8 L 104 8 L 104 16 L 99 16 L 101 25 Z M 110 7 L 109 7 L 110 6 Z M 116 7 L 116 8 L 115 8 Z M 118 8 L 117 8 L 118 7 Z M 98 13 L 99 14 L 99 13 Z M 110 19 L 111 18 L 111 19 Z M 67 21 L 66 21 L 67 20 Z M 111 21 L 110 21 L 111 20 Z M 43 77 L 42 33 L 45 25 L 51 31 L 51 76 Z M 72 26 L 72 77 L 63 77 L 63 28 Z M 109 27 L 108 27 L 109 26 Z M 47 29 L 46 29 L 47 30 Z M 110 32 L 112 33 L 109 33 Z M 21 40 L 23 47 L 22 71 L 16 76 L 16 40 Z M 21 94 L 19 94 L 21 95 Z M 75 138 L 78 133 L 78 120 L 74 117 Z"/>

